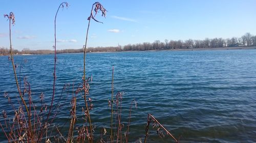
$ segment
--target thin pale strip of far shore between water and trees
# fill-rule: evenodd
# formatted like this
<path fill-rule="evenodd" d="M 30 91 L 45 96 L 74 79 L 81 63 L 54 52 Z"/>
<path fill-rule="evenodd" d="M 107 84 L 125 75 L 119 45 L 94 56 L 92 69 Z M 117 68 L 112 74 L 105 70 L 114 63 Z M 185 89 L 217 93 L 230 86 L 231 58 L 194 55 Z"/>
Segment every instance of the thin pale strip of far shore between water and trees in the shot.
<path fill-rule="evenodd" d="M 148 51 L 200 51 L 200 50 L 238 50 L 238 49 L 256 49 L 256 46 L 241 46 L 241 47 L 217 47 L 217 48 L 187 48 L 187 49 L 160 49 L 160 50 L 127 50 L 127 51 L 98 51 L 98 52 L 87 52 L 87 53 L 108 53 L 108 52 L 148 52 Z M 67 53 L 82 53 L 82 52 L 66 52 L 57 54 Z M 39 53 L 39 54 L 53 54 L 53 53 Z M 9 54 L 0 54 L 0 56 Z M 14 54 L 14 55 L 36 55 L 36 54 Z"/>

